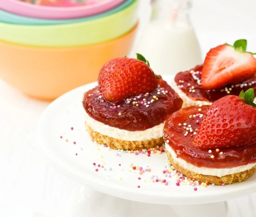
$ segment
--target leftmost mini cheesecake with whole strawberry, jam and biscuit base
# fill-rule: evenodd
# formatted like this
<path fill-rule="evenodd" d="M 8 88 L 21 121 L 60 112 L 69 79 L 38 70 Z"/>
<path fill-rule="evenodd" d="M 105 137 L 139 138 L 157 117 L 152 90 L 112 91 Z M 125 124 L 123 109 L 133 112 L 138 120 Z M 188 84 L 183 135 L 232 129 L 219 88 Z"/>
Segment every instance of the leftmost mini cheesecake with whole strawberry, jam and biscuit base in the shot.
<path fill-rule="evenodd" d="M 167 115 L 181 98 L 149 67 L 148 61 L 116 58 L 99 72 L 98 86 L 84 94 L 86 129 L 91 138 L 113 149 L 140 150 L 163 144 Z"/>

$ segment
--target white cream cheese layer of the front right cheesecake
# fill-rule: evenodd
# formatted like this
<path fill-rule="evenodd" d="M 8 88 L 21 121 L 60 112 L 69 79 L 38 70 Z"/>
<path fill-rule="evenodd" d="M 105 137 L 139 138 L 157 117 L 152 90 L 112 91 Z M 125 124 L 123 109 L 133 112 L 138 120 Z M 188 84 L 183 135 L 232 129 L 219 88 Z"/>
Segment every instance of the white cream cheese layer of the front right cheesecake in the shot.
<path fill-rule="evenodd" d="M 173 161 L 175 163 L 178 163 L 184 169 L 187 169 L 187 170 L 193 171 L 194 173 L 202 174 L 202 175 L 214 175 L 214 176 L 217 176 L 217 177 L 222 177 L 222 176 L 225 176 L 225 175 L 240 173 L 242 171 L 249 170 L 253 166 L 256 165 L 256 163 L 249 163 L 249 164 L 244 165 L 244 166 L 237 166 L 237 167 L 233 167 L 233 168 L 222 168 L 222 169 L 197 167 L 195 165 L 192 165 L 191 163 L 186 162 L 185 160 L 183 160 L 181 158 L 177 158 L 175 151 L 167 143 L 165 143 L 165 148 L 166 148 L 167 151 L 170 152 L 170 154 L 173 157 Z"/>

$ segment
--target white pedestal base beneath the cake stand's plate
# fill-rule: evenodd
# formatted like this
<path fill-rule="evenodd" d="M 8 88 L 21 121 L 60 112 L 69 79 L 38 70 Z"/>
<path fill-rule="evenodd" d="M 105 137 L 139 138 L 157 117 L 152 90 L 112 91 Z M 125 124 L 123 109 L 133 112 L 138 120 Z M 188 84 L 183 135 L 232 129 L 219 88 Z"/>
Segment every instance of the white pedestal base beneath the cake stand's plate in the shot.
<path fill-rule="evenodd" d="M 226 201 L 196 205 L 148 204 L 143 202 L 129 201 L 122 198 L 115 198 L 113 196 L 90 189 L 88 186 L 77 187 L 74 189 L 68 201 L 68 206 L 66 209 L 67 217 L 98 217 L 102 214 L 95 214 L 97 208 L 93 204 L 97 204 L 99 201 L 101 201 L 102 204 L 106 202 L 106 205 L 103 205 L 102 210 L 98 210 L 97 212 L 101 212 L 106 217 L 144 217 L 144 215 L 141 214 L 145 213 L 144 210 L 147 210 L 145 216 L 165 216 L 166 213 L 170 213 L 172 217 L 227 217 Z M 116 201 L 116 203 L 112 204 L 108 201 Z M 109 204 L 111 204 L 110 206 L 112 207 L 110 207 Z M 152 210 L 150 207 L 153 207 Z M 123 211 L 117 214 L 116 209 Z M 140 212 L 140 210 L 142 210 L 142 212 Z M 131 213 L 125 213 L 125 211 Z"/>

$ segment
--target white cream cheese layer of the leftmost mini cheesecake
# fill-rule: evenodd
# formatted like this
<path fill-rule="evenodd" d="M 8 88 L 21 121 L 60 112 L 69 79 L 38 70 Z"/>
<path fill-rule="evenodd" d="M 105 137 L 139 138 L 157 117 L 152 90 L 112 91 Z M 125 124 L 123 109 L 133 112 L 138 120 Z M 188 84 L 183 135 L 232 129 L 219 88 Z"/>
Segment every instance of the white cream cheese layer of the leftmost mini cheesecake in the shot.
<path fill-rule="evenodd" d="M 87 113 L 85 114 L 86 124 L 102 135 L 112 137 L 115 139 L 121 139 L 125 141 L 143 141 L 149 139 L 158 139 L 163 137 L 163 126 L 161 123 L 147 130 L 142 131 L 128 131 L 123 129 L 118 129 L 116 127 L 110 127 L 104 123 L 101 123 L 93 118 L 91 118 Z"/>

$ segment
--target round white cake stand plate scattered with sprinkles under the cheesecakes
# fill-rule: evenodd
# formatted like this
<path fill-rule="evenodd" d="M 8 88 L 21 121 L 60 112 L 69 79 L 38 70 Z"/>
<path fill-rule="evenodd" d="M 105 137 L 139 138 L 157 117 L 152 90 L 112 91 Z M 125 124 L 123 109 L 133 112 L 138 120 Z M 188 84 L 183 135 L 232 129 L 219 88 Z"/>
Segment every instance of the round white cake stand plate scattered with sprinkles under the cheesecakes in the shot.
<path fill-rule="evenodd" d="M 168 81 L 170 77 L 165 76 Z M 85 91 L 96 83 L 84 85 L 67 92 L 52 102 L 42 114 L 38 125 L 38 142 L 50 160 L 64 174 L 81 182 L 90 184 L 92 188 L 112 196 L 133 201 L 156 204 L 203 204 L 229 200 L 231 198 L 252 193 L 256 190 L 256 174 L 247 181 L 226 186 L 176 186 L 175 178 L 165 177 L 161 170 L 165 169 L 165 154 L 122 154 L 117 150 L 94 144 L 84 126 L 84 109 L 82 98 Z M 74 130 L 71 130 L 74 127 Z M 63 138 L 60 139 L 60 136 Z M 68 139 L 68 142 L 65 140 Z M 73 142 L 76 142 L 74 144 Z M 81 148 L 83 150 L 81 150 Z M 76 153 L 78 155 L 76 155 Z M 117 153 L 121 156 L 118 157 Z M 106 171 L 101 167 L 105 162 Z M 121 164 L 119 166 L 118 164 Z M 139 175 L 129 165 L 151 168 L 150 172 Z M 112 170 L 109 170 L 109 167 Z M 99 171 L 96 172 L 95 169 Z M 131 169 L 131 172 L 129 172 Z M 166 179 L 168 185 L 151 182 L 151 176 L 158 175 Z M 141 177 L 139 180 L 138 177 Z M 122 178 L 122 180 L 120 180 Z M 146 182 L 144 182 L 144 179 Z M 138 185 L 140 188 L 138 188 Z"/>

